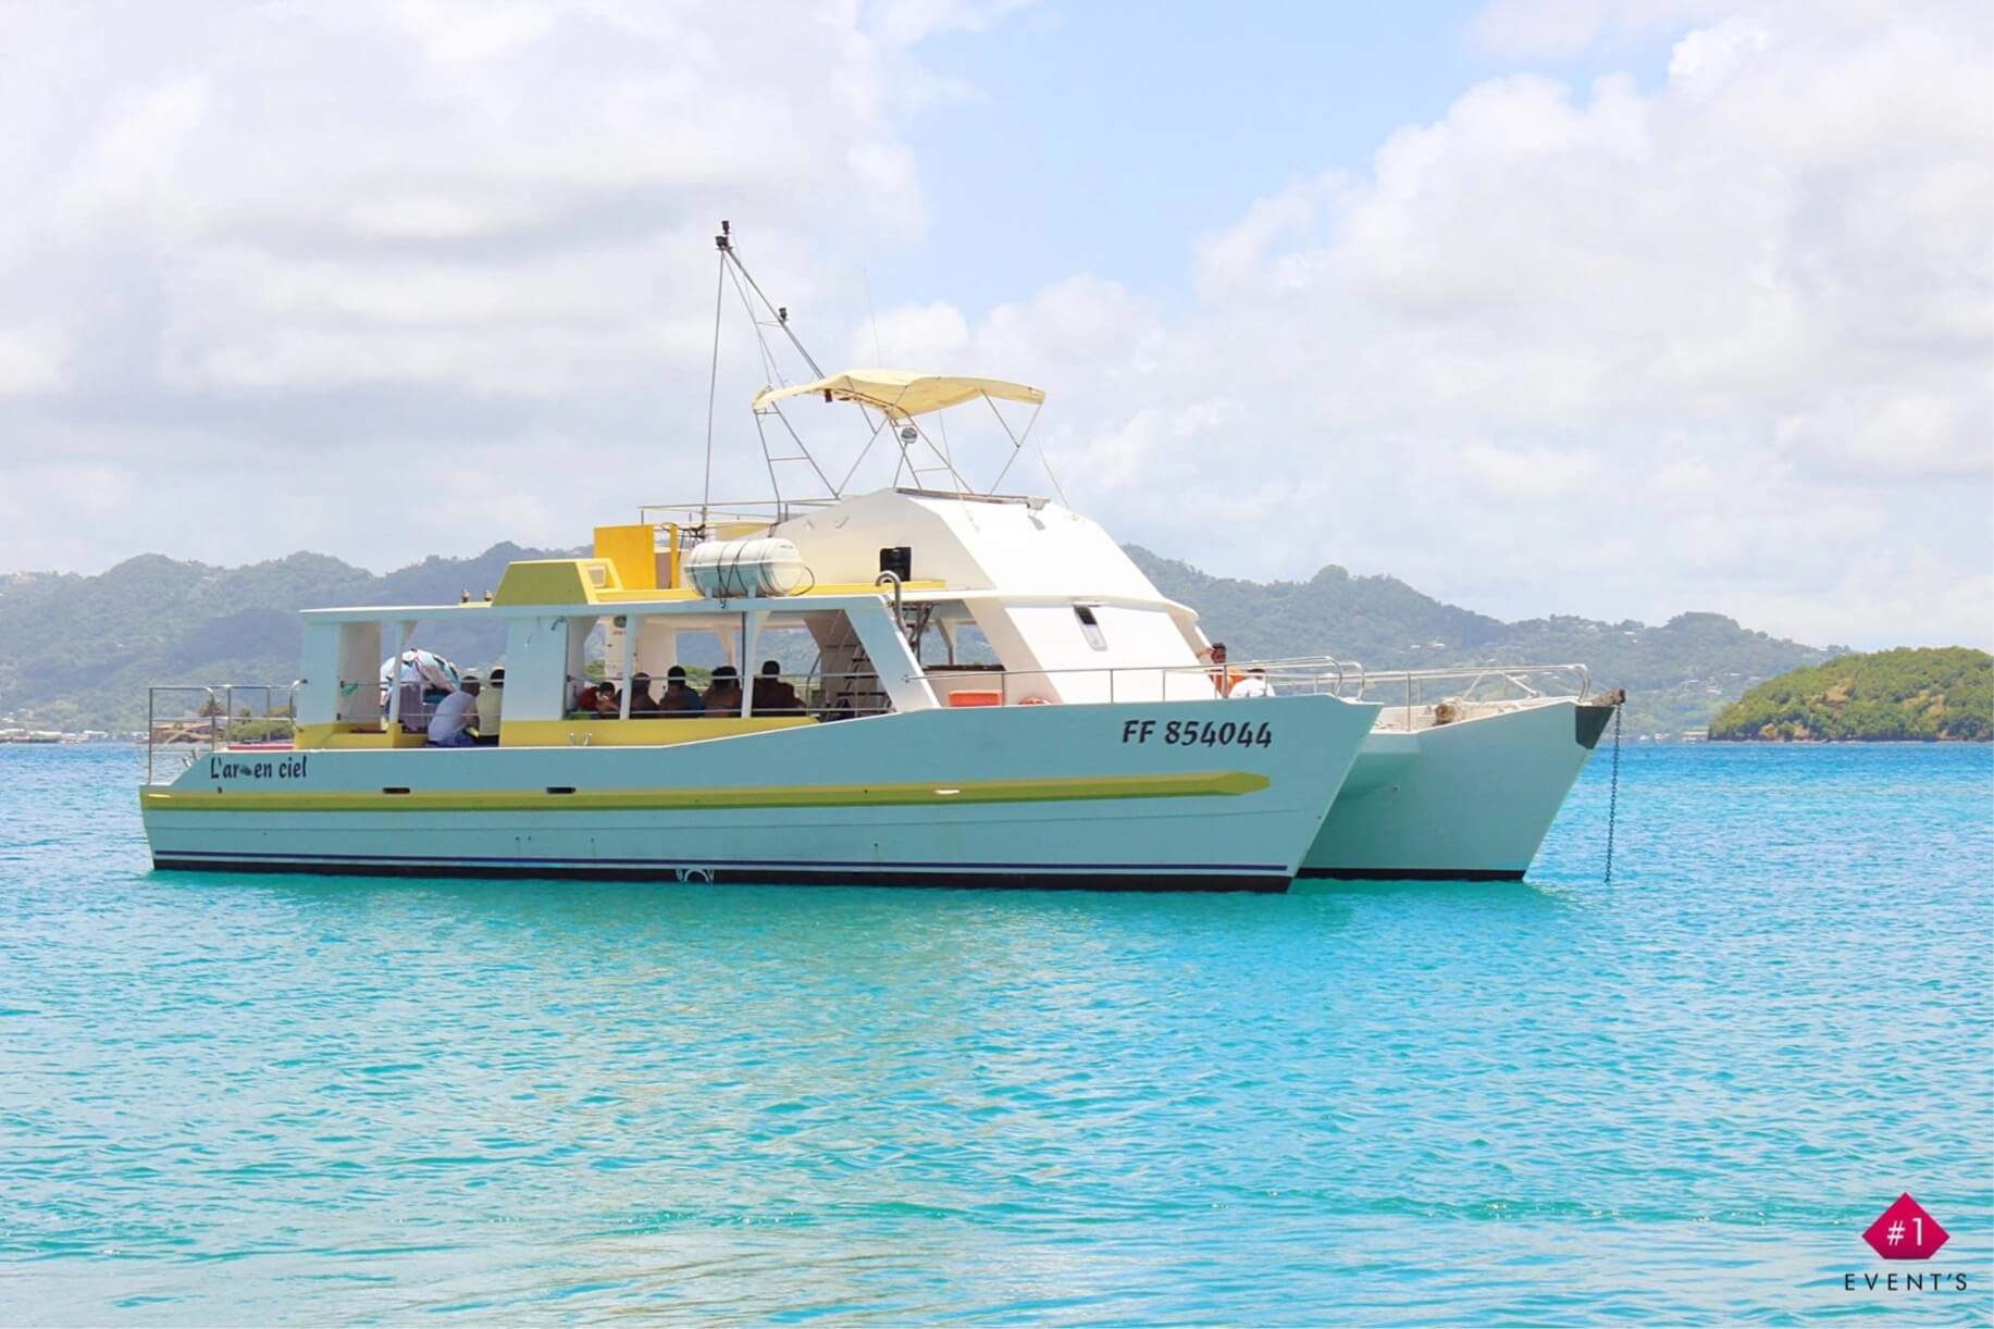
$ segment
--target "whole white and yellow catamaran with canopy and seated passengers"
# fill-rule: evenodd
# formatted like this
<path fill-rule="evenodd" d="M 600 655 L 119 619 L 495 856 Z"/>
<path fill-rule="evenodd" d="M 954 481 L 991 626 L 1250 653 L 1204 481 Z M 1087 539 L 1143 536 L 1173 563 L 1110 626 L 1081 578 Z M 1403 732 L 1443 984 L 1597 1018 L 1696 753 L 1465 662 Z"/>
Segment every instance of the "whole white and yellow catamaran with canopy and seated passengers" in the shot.
<path fill-rule="evenodd" d="M 512 562 L 485 600 L 307 610 L 301 679 L 261 689 L 261 713 L 243 687 L 152 689 L 154 865 L 1143 891 L 1521 877 L 1611 715 L 1571 667 L 1212 664 L 1196 612 L 1099 524 L 971 486 L 929 436 L 971 402 L 1035 418 L 1039 389 L 849 371 L 764 389 L 758 430 L 810 399 L 889 436 L 895 484 L 644 508 L 588 556 Z M 776 460 L 822 478 L 762 432 L 772 478 Z M 395 662 L 463 628 L 502 640 L 502 701 L 497 735 L 445 747 Z M 658 713 L 644 683 L 764 658 L 790 662 L 780 683 L 720 687 L 700 713 Z M 1557 673 L 1561 693 L 1531 681 Z M 166 715 L 175 695 L 199 705 Z"/>

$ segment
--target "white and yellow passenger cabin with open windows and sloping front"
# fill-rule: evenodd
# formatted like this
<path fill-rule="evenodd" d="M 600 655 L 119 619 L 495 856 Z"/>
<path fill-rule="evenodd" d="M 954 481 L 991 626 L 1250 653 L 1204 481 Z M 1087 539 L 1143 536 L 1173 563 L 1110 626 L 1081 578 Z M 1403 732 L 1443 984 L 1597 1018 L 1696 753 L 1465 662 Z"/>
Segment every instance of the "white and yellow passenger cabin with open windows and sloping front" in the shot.
<path fill-rule="evenodd" d="M 1061 504 L 879 490 L 766 518 L 706 516 L 708 542 L 794 544 L 794 592 L 702 594 L 686 576 L 696 548 L 688 520 L 598 528 L 592 558 L 514 562 L 489 602 L 309 610 L 299 745 L 419 743 L 397 689 L 379 685 L 381 662 L 421 646 L 423 624 L 461 616 L 504 624 L 506 745 L 718 737 L 722 719 L 746 721 L 724 729 L 736 731 L 937 705 L 1214 695 L 1196 614 L 1163 598 L 1101 526 Z M 634 727 L 596 729 L 604 717 L 574 713 L 592 640 L 604 644 L 602 675 L 662 683 L 688 638 L 718 642 L 750 673 L 770 634 L 796 630 L 818 656 L 802 675 L 802 715 L 756 715 L 752 691 L 738 715 L 708 711 L 692 727 L 640 713 Z M 632 719 L 628 695 L 616 719 Z"/>

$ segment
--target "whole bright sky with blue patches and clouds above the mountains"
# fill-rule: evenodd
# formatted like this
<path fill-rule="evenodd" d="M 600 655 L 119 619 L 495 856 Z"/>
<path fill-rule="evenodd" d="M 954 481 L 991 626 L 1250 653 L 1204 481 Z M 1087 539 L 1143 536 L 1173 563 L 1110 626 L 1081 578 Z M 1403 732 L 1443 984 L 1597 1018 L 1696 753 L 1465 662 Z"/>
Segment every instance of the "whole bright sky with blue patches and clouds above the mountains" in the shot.
<path fill-rule="evenodd" d="M 1994 644 L 1982 2 L 0 0 L 0 572 L 582 544 L 700 496 L 710 383 L 766 498 L 802 367 L 722 287 L 716 369 L 726 217 L 828 369 L 1045 389 L 1005 488 L 1043 448 L 1208 572 Z"/>

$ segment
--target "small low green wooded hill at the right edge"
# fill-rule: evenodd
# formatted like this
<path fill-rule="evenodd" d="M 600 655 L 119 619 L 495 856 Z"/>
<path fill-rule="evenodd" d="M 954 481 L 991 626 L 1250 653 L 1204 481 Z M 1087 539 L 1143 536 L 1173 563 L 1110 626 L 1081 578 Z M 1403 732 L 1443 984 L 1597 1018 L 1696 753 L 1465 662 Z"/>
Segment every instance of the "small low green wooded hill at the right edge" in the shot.
<path fill-rule="evenodd" d="M 1759 683 L 1713 739 L 1994 739 L 1994 656 L 1964 646 L 1842 656 Z"/>

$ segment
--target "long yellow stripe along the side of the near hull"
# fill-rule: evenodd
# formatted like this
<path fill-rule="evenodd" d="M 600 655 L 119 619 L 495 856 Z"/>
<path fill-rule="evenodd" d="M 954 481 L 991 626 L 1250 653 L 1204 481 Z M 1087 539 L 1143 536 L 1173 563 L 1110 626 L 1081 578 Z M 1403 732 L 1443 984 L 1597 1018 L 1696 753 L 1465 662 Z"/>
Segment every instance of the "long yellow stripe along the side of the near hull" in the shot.
<path fill-rule="evenodd" d="M 1188 799 L 1258 793 L 1266 775 L 1073 775 L 881 785 L 748 785 L 720 789 L 417 789 L 411 793 L 293 793 L 146 789 L 150 813 L 562 813 L 712 807 L 935 807 L 941 803 L 1071 803 L 1087 799 Z"/>

